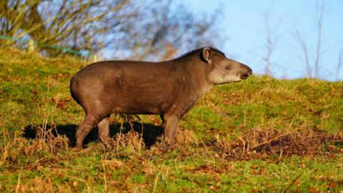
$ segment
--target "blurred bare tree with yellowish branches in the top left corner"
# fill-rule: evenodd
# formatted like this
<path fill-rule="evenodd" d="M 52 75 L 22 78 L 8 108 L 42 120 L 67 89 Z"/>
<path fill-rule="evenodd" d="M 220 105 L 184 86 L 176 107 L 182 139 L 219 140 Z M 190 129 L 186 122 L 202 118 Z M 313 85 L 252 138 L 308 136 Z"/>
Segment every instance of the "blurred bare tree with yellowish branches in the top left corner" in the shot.
<path fill-rule="evenodd" d="M 57 44 L 96 51 L 99 34 L 124 22 L 121 17 L 127 16 L 123 9 L 128 4 L 128 0 L 4 0 L 0 3 L 1 34 L 34 39 L 49 54 Z"/>

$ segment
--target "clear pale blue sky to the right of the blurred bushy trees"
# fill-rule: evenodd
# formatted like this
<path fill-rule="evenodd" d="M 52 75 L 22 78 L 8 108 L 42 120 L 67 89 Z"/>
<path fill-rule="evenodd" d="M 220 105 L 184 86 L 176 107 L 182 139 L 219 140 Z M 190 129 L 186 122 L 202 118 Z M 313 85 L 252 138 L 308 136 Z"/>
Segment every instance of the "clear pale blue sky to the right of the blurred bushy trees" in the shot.
<path fill-rule="evenodd" d="M 266 22 L 259 11 L 268 12 L 269 29 L 275 45 L 271 57 L 272 76 L 296 79 L 306 75 L 303 52 L 292 31 L 294 26 L 297 26 L 304 33 L 309 48 L 314 52 L 317 30 L 309 6 L 314 6 L 317 0 L 185 0 L 183 2 L 196 14 L 211 13 L 219 7 L 222 8 L 223 14 L 218 18 L 219 34 L 225 38 L 216 46 L 228 57 L 250 66 L 255 74 L 264 74 L 265 64 L 262 58 L 267 53 L 265 51 Z M 343 80 L 343 66 L 337 74 L 339 51 L 343 52 L 343 1 L 324 0 L 324 2 L 327 5 L 327 14 L 324 15 L 322 31 L 323 54 L 319 66 L 319 79 Z M 310 56 L 313 58 L 314 54 Z"/>

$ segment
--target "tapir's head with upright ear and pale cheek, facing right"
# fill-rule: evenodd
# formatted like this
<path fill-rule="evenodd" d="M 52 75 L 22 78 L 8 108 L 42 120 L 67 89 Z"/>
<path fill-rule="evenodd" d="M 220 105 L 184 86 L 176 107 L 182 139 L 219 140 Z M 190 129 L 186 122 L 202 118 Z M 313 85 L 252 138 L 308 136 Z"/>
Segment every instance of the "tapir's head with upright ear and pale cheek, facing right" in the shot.
<path fill-rule="evenodd" d="M 249 66 L 228 59 L 222 51 L 205 47 L 202 57 L 209 65 L 208 79 L 212 84 L 225 84 L 228 82 L 241 81 L 252 75 Z"/>

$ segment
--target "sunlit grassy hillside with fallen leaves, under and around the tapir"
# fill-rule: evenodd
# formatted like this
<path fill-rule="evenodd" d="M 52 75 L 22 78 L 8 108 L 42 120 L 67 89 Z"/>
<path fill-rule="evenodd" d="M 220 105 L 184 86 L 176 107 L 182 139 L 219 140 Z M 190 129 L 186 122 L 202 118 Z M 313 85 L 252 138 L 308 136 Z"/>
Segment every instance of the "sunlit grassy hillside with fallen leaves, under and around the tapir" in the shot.
<path fill-rule="evenodd" d="M 112 116 L 112 148 L 94 129 L 77 151 L 69 81 L 86 64 L 0 49 L 0 192 L 343 190 L 342 81 L 252 76 L 209 91 L 172 151 L 147 115 Z"/>

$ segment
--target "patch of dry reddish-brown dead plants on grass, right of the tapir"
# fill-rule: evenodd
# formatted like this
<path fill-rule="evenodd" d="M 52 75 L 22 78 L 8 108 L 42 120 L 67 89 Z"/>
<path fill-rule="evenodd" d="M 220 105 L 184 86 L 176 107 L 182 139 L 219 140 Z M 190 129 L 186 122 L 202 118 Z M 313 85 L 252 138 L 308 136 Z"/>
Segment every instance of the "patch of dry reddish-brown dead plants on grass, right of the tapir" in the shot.
<path fill-rule="evenodd" d="M 212 143 L 215 151 L 230 159 L 246 156 L 267 158 L 270 155 L 289 157 L 294 154 L 314 156 L 342 152 L 332 144 L 343 144 L 342 132 L 326 134 L 307 129 L 282 133 L 276 129 L 252 129 L 237 137 L 234 142 L 219 139 L 218 136 Z"/>

